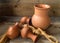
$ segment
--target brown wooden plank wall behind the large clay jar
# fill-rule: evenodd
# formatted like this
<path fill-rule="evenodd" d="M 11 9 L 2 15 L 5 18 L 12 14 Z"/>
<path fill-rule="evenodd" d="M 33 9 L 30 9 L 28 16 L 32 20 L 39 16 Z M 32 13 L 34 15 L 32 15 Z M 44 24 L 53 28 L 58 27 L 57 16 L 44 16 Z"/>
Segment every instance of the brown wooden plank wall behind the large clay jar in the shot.
<path fill-rule="evenodd" d="M 60 0 L 20 0 L 17 7 L 14 7 L 17 0 L 0 0 L 1 16 L 32 16 L 34 4 L 44 3 L 51 5 L 50 16 L 60 16 Z"/>

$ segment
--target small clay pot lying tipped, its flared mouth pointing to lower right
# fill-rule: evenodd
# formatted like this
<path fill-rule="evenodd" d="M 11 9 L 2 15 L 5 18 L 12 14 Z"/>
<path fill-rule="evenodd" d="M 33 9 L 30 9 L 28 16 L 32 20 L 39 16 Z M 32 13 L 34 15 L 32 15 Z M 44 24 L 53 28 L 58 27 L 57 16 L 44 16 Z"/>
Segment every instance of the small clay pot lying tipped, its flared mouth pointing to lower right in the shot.
<path fill-rule="evenodd" d="M 21 36 L 22 38 L 30 38 L 33 42 L 35 42 L 37 39 L 37 35 L 30 32 L 28 25 L 24 25 L 23 29 L 21 30 Z"/>

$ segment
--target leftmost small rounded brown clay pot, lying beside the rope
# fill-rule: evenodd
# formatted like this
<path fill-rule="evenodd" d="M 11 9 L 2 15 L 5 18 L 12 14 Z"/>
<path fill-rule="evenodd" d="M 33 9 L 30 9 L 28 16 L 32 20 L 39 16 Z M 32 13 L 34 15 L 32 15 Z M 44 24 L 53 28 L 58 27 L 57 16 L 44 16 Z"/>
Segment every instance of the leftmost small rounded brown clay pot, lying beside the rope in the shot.
<path fill-rule="evenodd" d="M 10 26 L 7 31 L 7 37 L 10 39 L 15 39 L 19 35 L 19 28 L 18 23 L 15 23 L 15 25 Z"/>

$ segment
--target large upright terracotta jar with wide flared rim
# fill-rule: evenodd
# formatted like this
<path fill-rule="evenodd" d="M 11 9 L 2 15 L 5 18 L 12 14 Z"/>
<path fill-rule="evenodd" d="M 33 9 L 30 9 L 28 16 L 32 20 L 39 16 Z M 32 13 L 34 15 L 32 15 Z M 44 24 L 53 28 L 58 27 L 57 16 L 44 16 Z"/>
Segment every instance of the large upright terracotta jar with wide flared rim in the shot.
<path fill-rule="evenodd" d="M 40 27 L 46 29 L 50 25 L 50 18 L 48 16 L 50 5 L 36 4 L 34 9 L 35 12 L 32 16 L 32 25 L 36 28 Z"/>

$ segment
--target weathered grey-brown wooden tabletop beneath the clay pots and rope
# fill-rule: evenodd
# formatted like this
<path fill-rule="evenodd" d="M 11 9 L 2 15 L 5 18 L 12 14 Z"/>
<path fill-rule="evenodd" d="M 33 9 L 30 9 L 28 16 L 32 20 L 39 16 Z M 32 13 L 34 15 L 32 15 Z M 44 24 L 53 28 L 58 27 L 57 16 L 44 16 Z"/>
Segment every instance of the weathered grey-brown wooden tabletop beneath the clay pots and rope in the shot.
<path fill-rule="evenodd" d="M 7 21 L 0 23 L 0 35 L 2 35 L 10 25 L 13 25 L 15 22 L 19 21 L 21 17 L 7 17 L 9 18 Z M 51 17 L 51 24 L 52 26 L 47 29 L 48 34 L 55 36 L 60 43 L 60 17 Z M 10 40 L 10 43 L 33 43 L 31 39 L 23 39 L 21 36 L 14 40 Z M 37 43 L 50 43 L 47 39 L 43 36 L 39 38 Z"/>

